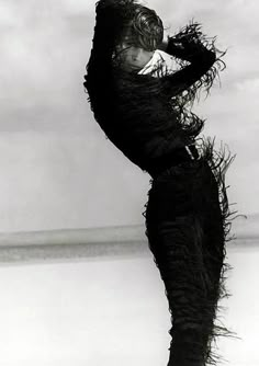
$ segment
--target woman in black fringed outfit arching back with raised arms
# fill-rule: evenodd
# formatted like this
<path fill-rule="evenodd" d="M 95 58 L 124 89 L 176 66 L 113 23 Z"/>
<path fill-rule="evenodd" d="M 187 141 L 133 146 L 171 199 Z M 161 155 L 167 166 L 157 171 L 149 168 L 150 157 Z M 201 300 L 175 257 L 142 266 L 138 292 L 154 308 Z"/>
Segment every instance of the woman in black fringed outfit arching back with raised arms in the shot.
<path fill-rule="evenodd" d="M 215 364 L 212 341 L 227 334 L 215 319 L 226 295 L 224 175 L 233 158 L 211 139 L 200 138 L 198 149 L 204 121 L 190 107 L 210 92 L 224 53 L 194 22 L 164 42 L 159 16 L 135 0 L 100 0 L 95 11 L 83 84 L 106 137 L 151 176 L 143 215 L 171 313 L 168 366 Z"/>

